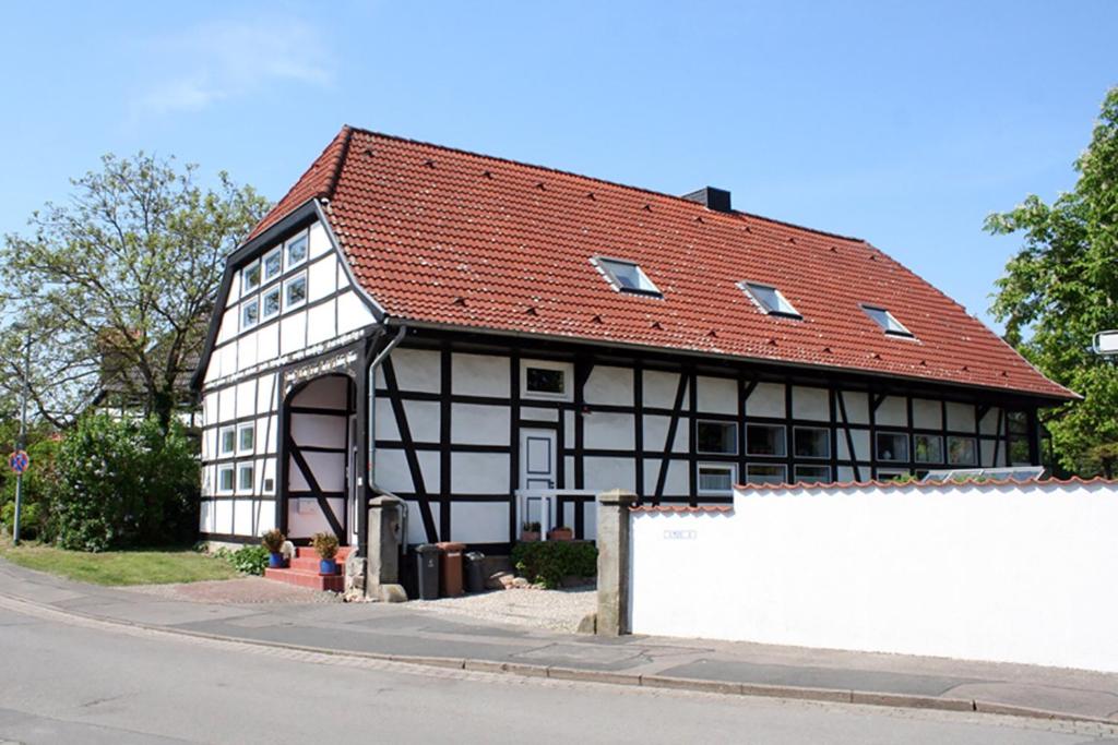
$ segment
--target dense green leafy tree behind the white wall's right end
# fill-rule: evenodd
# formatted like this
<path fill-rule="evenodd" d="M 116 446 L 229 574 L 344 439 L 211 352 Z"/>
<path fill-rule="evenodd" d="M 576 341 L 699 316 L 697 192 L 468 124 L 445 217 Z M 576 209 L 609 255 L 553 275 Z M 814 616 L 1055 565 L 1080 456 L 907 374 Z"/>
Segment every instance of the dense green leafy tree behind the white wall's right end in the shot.
<path fill-rule="evenodd" d="M 986 229 L 1020 232 L 1024 246 L 997 281 L 992 312 L 1006 340 L 1049 378 L 1083 397 L 1049 412 L 1061 464 L 1112 475 L 1118 455 L 1118 366 L 1091 352 L 1096 332 L 1118 328 L 1118 87 L 1102 103 L 1072 191 L 1035 194 Z"/>

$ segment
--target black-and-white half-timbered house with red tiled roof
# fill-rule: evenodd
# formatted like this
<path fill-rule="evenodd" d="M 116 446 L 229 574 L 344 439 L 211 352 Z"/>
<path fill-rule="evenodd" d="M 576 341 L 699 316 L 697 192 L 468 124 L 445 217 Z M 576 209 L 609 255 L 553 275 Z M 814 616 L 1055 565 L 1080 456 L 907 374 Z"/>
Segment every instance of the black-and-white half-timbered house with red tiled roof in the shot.
<path fill-rule="evenodd" d="M 195 378 L 200 526 L 500 553 L 596 490 L 1038 464 L 1074 394 L 871 243 L 344 127 L 228 259 Z"/>

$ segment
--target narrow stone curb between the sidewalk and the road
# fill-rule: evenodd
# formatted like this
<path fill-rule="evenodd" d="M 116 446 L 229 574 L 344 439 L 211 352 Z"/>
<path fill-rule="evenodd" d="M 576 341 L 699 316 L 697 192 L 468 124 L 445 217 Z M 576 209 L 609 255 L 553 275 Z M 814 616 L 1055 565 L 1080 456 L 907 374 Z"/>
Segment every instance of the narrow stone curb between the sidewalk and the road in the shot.
<path fill-rule="evenodd" d="M 909 696 L 904 694 L 888 694 L 877 691 L 858 691 L 842 688 L 802 688 L 798 686 L 779 686 L 750 682 L 732 682 L 727 680 L 709 680 L 703 678 L 674 678 L 671 676 L 657 675 L 635 675 L 625 672 L 610 672 L 605 670 L 586 670 L 578 668 L 565 668 L 559 666 L 531 665 L 529 662 L 500 662 L 496 660 L 481 660 L 472 658 L 456 657 L 423 657 L 413 655 L 383 655 L 378 652 L 360 652 L 325 647 L 313 647 L 310 644 L 292 644 L 282 641 L 262 641 L 247 639 L 244 637 L 230 637 L 220 633 L 207 633 L 203 631 L 192 631 L 176 629 L 173 627 L 158 625 L 153 623 L 142 623 L 139 621 L 127 621 L 123 619 L 112 619 L 93 613 L 83 613 L 75 610 L 63 610 L 47 603 L 38 603 L 26 598 L 0 593 L 0 598 L 18 605 L 31 606 L 49 613 L 63 617 L 73 617 L 117 625 L 123 628 L 143 629 L 160 633 L 174 634 L 180 637 L 191 637 L 196 639 L 212 639 L 215 641 L 234 642 L 263 647 L 271 649 L 287 649 L 293 651 L 313 652 L 331 657 L 351 657 L 368 660 L 379 660 L 385 662 L 399 662 L 414 665 L 416 667 L 434 667 L 454 670 L 470 670 L 477 672 L 491 672 L 500 675 L 512 675 L 531 678 L 553 678 L 557 680 L 582 680 L 587 682 L 599 682 L 614 686 L 629 686 L 643 688 L 667 688 L 674 690 L 691 690 L 705 694 L 721 694 L 727 696 L 754 696 L 764 698 L 787 698 L 798 700 L 826 701 L 837 704 L 861 704 L 869 706 L 883 706 L 890 708 L 921 708 L 938 709 L 945 711 L 977 711 L 979 714 L 1004 715 L 1027 717 L 1033 719 L 1052 719 L 1063 722 L 1087 722 L 1116 726 L 1118 720 L 1091 717 L 1079 714 L 1068 714 L 1063 711 L 1052 711 L 1049 709 L 1033 708 L 1027 706 L 1014 706 L 1011 704 L 996 704 L 982 701 L 978 699 L 938 698 L 934 696 Z M 2 745 L 2 744 L 0 744 Z"/>

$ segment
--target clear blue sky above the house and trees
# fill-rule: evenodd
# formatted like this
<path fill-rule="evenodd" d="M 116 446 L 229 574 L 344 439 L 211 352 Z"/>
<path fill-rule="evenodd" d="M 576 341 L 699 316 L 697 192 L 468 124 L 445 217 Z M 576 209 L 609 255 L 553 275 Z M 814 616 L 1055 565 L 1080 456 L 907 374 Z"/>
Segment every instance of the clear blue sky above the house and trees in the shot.
<path fill-rule="evenodd" d="M 1118 2 L 15 3 L 0 232 L 102 153 L 278 199 L 343 123 L 865 238 L 989 322 L 1118 85 Z"/>

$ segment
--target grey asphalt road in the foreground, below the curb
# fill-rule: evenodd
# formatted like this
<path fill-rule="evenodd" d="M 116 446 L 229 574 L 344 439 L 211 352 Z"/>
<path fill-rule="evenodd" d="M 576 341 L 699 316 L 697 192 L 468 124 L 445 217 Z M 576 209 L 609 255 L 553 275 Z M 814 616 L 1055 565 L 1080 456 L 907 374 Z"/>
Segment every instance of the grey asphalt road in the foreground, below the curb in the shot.
<path fill-rule="evenodd" d="M 0 608 L 0 743 L 1087 743 L 1101 728 L 252 647 Z"/>

